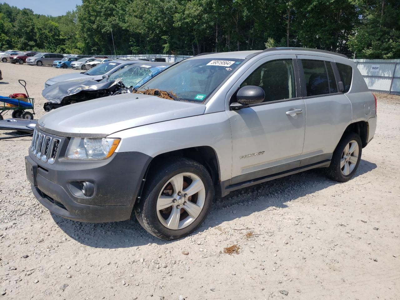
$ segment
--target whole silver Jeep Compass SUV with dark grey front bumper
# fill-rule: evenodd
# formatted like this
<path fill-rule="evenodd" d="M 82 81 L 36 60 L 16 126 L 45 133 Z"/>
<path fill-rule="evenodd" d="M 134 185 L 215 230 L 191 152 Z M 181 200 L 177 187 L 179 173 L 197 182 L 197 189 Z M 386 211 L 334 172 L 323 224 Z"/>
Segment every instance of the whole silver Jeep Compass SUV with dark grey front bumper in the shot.
<path fill-rule="evenodd" d="M 85 222 L 133 212 L 170 240 L 196 230 L 215 195 L 312 168 L 352 178 L 376 98 L 340 54 L 269 48 L 183 60 L 133 94 L 54 110 L 36 127 L 26 172 L 40 203 Z"/>

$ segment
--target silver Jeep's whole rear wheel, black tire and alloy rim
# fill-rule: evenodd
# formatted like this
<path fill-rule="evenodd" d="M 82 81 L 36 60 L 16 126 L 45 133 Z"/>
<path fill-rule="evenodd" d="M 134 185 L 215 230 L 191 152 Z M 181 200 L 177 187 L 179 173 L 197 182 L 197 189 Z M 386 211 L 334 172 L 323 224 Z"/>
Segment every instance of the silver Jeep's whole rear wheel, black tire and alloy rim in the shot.
<path fill-rule="evenodd" d="M 361 160 L 362 144 L 358 134 L 350 132 L 340 140 L 332 155 L 326 175 L 338 182 L 346 182 L 353 177 Z"/>

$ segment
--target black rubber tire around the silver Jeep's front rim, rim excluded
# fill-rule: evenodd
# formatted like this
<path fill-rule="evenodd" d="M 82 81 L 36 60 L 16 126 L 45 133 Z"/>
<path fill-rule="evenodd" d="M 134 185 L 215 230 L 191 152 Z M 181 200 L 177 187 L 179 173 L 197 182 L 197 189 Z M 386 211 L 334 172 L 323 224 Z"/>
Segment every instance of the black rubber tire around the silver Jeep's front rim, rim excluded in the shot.
<path fill-rule="evenodd" d="M 210 211 L 215 192 L 211 176 L 202 164 L 184 157 L 167 158 L 167 160 L 157 170 L 149 172 L 142 197 L 136 204 L 134 212 L 138 222 L 147 232 L 157 238 L 175 240 L 187 236 L 202 224 Z M 172 230 L 164 226 L 158 218 L 156 209 L 158 195 L 173 176 L 184 172 L 193 173 L 202 180 L 206 191 L 204 205 L 198 217 L 190 225 Z"/>

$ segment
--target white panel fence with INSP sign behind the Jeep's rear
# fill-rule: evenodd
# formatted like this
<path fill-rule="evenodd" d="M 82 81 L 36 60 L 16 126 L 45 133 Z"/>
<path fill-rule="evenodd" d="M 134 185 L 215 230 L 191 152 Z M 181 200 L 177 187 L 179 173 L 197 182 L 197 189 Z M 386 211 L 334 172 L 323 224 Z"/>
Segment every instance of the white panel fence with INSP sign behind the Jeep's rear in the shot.
<path fill-rule="evenodd" d="M 354 59 L 370 90 L 400 94 L 400 59 Z"/>

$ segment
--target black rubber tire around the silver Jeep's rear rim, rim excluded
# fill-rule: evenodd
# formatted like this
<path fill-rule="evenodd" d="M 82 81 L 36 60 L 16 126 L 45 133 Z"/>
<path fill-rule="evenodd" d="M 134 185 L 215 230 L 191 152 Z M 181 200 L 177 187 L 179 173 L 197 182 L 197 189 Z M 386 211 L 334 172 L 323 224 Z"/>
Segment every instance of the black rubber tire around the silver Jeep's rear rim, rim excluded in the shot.
<path fill-rule="evenodd" d="M 344 148 L 351 141 L 356 141 L 356 143 L 358 144 L 358 158 L 354 169 L 348 175 L 344 175 L 342 172 L 342 168 L 340 167 L 340 161 L 344 157 Z M 325 170 L 326 176 L 338 182 L 346 182 L 350 180 L 350 178 L 353 177 L 354 173 L 356 173 L 358 165 L 360 164 L 361 153 L 362 144 L 360 136 L 354 132 L 349 132 L 348 134 L 345 134 L 340 140 L 338 146 L 336 146 L 335 151 L 333 152 L 330 166 Z"/>

